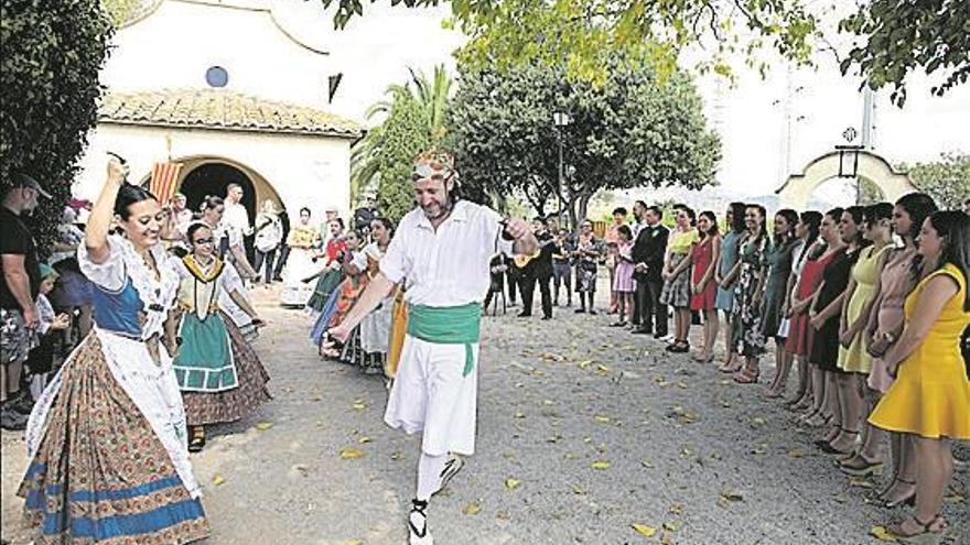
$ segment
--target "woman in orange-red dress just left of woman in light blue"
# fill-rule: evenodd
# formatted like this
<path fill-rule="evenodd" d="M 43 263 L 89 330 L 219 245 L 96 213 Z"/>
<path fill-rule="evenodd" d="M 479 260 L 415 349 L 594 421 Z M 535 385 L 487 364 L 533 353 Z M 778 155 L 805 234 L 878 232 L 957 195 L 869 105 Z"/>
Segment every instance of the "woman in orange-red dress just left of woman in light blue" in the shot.
<path fill-rule="evenodd" d="M 691 250 L 693 265 L 690 275 L 690 308 L 704 315 L 703 348 L 694 352 L 694 361 L 709 362 L 714 359 L 714 341 L 718 339 L 718 284 L 714 269 L 721 255 L 721 233 L 718 231 L 718 217 L 710 210 L 698 218 L 701 240 Z"/>

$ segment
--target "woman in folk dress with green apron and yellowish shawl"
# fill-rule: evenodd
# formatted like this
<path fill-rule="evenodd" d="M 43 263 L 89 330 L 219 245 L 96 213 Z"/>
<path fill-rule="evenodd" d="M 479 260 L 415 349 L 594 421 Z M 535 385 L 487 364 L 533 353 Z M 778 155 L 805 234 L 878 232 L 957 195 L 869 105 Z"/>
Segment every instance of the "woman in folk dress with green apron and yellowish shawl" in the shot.
<path fill-rule="evenodd" d="M 188 450 L 205 446 L 205 425 L 235 422 L 270 399 L 269 374 L 219 301 L 230 297 L 257 326 L 262 320 L 239 292 L 239 274 L 217 257 L 213 232 L 203 222 L 188 226 L 192 253 L 179 268 L 179 351 L 175 378 L 190 427 Z"/>

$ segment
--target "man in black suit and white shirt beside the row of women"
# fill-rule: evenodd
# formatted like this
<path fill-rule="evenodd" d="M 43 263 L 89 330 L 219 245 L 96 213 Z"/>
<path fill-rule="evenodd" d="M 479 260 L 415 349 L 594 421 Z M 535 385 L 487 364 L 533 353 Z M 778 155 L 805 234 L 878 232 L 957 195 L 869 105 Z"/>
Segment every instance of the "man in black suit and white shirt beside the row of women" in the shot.
<path fill-rule="evenodd" d="M 633 246 L 633 261 L 636 263 L 636 305 L 640 326 L 635 334 L 654 334 L 654 337 L 667 336 L 667 305 L 660 303 L 660 291 L 664 288 L 664 257 L 667 253 L 667 238 L 670 231 L 660 224 L 664 210 L 650 206 L 644 210 L 646 226 L 640 229 Z"/>

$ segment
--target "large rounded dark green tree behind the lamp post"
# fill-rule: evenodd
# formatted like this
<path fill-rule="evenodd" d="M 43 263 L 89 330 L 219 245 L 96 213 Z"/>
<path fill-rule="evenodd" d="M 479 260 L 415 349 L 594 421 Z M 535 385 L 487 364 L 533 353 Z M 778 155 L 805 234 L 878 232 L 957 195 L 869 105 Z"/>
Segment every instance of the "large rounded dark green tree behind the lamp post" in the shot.
<path fill-rule="evenodd" d="M 682 73 L 661 84 L 654 67 L 614 59 L 600 86 L 541 63 L 462 69 L 450 140 L 471 193 L 515 195 L 540 214 L 561 204 L 575 225 L 601 189 L 714 183 L 720 141 Z M 570 123 L 557 128 L 557 112 Z"/>

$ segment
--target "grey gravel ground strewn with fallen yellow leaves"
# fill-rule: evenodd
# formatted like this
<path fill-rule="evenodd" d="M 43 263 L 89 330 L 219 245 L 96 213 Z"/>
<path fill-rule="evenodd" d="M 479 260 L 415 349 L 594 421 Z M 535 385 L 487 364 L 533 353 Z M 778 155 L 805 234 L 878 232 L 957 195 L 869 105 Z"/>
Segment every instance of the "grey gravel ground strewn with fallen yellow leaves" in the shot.
<path fill-rule="evenodd" d="M 406 543 L 418 438 L 384 425 L 379 379 L 321 361 L 301 313 L 267 292 L 256 299 L 271 320 L 257 350 L 276 399 L 218 427 L 193 458 L 213 526 L 205 543 Z M 882 481 L 850 482 L 815 435 L 761 399 L 763 385 L 605 327 L 612 317 L 557 309 L 545 323 L 514 310 L 486 319 L 477 454 L 432 501 L 436 543 L 867 544 L 871 526 L 902 514 L 863 503 Z M 772 373 L 766 364 L 762 381 Z M 363 457 L 342 459 L 348 448 Z M 2 462 L 3 537 L 25 544 L 18 434 L 2 434 Z M 970 543 L 970 475 L 959 470 L 950 544 Z"/>

